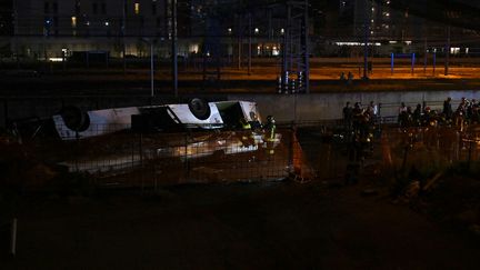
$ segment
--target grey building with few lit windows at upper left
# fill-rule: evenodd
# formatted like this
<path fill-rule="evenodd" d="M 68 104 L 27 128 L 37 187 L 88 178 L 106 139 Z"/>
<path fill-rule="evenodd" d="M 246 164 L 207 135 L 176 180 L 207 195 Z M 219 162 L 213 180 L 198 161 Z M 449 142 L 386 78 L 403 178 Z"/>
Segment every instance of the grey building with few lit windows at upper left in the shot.
<path fill-rule="evenodd" d="M 190 36 L 190 1 L 178 1 L 178 34 Z M 12 50 L 34 59 L 74 51 L 106 51 L 111 57 L 142 57 L 154 42 L 167 57 L 171 39 L 171 0 L 16 0 Z M 179 43 L 179 53 L 193 49 Z M 123 49 L 124 47 L 124 49 Z"/>

